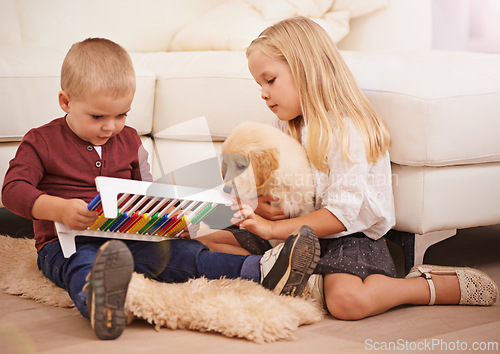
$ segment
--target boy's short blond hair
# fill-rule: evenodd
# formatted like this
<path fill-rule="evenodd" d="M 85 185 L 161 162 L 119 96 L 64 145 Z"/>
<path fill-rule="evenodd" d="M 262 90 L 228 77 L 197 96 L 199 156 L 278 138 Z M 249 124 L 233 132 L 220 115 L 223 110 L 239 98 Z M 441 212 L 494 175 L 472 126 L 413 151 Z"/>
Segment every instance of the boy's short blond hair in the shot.
<path fill-rule="evenodd" d="M 119 97 L 135 92 L 135 71 L 127 51 L 104 38 L 73 44 L 61 69 L 61 89 L 72 99 L 89 93 Z"/>

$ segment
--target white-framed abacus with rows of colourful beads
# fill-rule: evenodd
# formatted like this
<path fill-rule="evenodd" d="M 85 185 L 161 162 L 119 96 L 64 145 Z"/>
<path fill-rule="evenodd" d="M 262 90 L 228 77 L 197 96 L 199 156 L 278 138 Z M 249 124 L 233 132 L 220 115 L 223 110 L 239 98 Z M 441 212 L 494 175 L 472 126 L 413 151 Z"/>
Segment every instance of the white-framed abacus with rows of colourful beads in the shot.
<path fill-rule="evenodd" d="M 217 205 L 233 204 L 231 197 L 219 189 L 101 176 L 95 182 L 99 193 L 88 208 L 99 213 L 96 222 L 86 230 L 55 223 L 66 258 L 76 251 L 76 236 L 162 241 L 199 224 Z"/>

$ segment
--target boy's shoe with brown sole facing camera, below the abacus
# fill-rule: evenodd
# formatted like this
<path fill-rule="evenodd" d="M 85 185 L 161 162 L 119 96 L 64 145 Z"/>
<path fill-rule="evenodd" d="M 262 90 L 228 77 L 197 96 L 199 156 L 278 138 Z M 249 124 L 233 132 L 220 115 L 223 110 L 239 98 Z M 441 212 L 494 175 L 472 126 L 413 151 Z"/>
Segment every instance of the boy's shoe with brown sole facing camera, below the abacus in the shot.
<path fill-rule="evenodd" d="M 124 311 L 134 259 L 122 241 L 103 244 L 88 276 L 87 309 L 90 324 L 100 339 L 118 338 L 125 329 Z"/>

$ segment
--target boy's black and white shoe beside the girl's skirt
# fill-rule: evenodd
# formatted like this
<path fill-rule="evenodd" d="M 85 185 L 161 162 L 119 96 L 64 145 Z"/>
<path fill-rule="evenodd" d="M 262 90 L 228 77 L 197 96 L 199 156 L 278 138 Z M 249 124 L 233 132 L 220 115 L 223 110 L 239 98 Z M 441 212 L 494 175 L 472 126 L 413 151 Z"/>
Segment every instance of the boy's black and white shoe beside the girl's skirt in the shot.
<path fill-rule="evenodd" d="M 319 255 L 318 237 L 309 226 L 302 226 L 285 243 L 262 256 L 262 285 L 276 294 L 300 296 L 316 268 Z"/>

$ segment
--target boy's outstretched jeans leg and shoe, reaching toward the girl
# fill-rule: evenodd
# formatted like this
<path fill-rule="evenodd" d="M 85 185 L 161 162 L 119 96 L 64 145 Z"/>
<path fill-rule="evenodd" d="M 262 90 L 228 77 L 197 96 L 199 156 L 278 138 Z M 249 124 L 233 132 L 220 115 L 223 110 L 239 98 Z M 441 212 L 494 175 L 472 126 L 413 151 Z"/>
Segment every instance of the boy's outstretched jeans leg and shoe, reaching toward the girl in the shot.
<path fill-rule="evenodd" d="M 185 282 L 202 276 L 244 278 L 291 295 L 302 293 L 319 259 L 318 238 L 307 226 L 291 235 L 280 245 L 282 248 L 275 250 L 276 257 L 266 257 L 265 262 L 257 255 L 211 252 L 195 240 L 173 239 L 147 245 L 137 241 L 128 245 L 134 256 L 135 270 L 159 281 Z"/>

